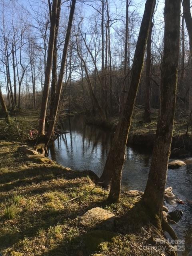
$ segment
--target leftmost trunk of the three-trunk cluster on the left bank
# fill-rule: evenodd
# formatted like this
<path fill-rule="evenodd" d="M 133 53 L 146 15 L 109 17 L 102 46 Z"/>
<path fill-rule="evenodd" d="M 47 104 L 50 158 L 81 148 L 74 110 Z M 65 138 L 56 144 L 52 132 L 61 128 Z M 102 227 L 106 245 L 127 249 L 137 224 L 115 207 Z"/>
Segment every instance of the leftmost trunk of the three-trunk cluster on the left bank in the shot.
<path fill-rule="evenodd" d="M 39 135 L 40 136 L 45 135 L 45 118 L 46 118 L 46 110 L 47 110 L 48 95 L 49 95 L 49 85 L 50 85 L 50 75 L 51 75 L 52 60 L 53 60 L 57 4 L 58 4 L 58 1 L 53 0 L 51 23 L 50 23 L 49 46 L 48 46 L 47 63 L 46 63 L 46 70 L 45 70 L 45 81 L 44 81 L 41 112 L 40 112 L 40 119 L 39 119 Z"/>

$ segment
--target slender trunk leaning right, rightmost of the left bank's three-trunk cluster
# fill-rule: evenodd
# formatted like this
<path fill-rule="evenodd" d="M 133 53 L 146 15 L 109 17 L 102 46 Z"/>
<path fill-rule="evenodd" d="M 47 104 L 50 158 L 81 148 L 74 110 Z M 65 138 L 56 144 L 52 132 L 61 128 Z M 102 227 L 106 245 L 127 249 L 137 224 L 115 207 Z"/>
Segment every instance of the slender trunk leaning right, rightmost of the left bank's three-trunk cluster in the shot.
<path fill-rule="evenodd" d="M 70 34 L 71 34 L 71 28 L 72 28 L 72 22 L 73 22 L 73 15 L 74 15 L 74 11 L 75 11 L 75 4 L 76 4 L 76 0 L 72 0 L 69 21 L 68 21 L 68 27 L 67 27 L 67 31 L 66 31 L 65 44 L 64 44 L 64 49 L 63 49 L 63 55 L 62 55 L 62 60 L 61 60 L 61 68 L 60 68 L 60 72 L 59 72 L 58 84 L 56 86 L 54 108 L 53 108 L 52 116 L 50 116 L 50 124 L 49 124 L 48 132 L 47 132 L 48 142 L 51 139 L 51 136 L 54 131 L 56 116 L 57 116 L 57 112 L 58 112 L 58 106 L 59 106 L 59 102 L 60 102 L 63 75 L 64 75 L 65 66 L 66 66 L 66 58 L 67 58 L 67 52 L 68 52 L 68 45 L 69 45 L 69 41 L 70 41 Z"/>

